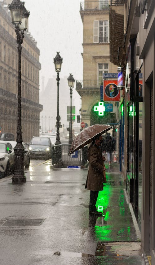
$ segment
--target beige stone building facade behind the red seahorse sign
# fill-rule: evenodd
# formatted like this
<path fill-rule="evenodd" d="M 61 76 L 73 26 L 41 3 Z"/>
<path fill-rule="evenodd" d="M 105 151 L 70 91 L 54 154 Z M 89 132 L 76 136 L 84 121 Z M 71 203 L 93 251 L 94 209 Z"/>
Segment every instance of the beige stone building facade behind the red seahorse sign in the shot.
<path fill-rule="evenodd" d="M 80 14 L 83 22 L 83 80 L 77 80 L 76 89 L 82 99 L 81 121 L 88 126 L 106 124 L 111 113 L 108 113 L 107 120 L 105 115 L 99 119 L 94 116 L 93 107 L 100 101 L 103 73 L 117 73 L 117 67 L 110 62 L 109 1 L 81 2 Z M 113 113 L 117 117 L 116 103 L 113 103 Z"/>

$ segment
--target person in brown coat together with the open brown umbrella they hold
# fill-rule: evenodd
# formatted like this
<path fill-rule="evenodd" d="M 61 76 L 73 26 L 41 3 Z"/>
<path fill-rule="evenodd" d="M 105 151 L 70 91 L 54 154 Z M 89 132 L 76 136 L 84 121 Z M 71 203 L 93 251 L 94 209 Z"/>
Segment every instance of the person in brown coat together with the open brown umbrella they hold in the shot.
<path fill-rule="evenodd" d="M 102 157 L 100 150 L 103 141 L 102 134 L 109 131 L 111 126 L 104 124 L 94 124 L 83 129 L 73 140 L 69 155 L 76 150 L 92 143 L 88 149 L 89 170 L 86 180 L 86 189 L 90 190 L 89 214 L 100 215 L 101 212 L 96 210 L 96 201 L 99 190 L 103 190 L 103 182 L 105 178 L 105 157 Z"/>

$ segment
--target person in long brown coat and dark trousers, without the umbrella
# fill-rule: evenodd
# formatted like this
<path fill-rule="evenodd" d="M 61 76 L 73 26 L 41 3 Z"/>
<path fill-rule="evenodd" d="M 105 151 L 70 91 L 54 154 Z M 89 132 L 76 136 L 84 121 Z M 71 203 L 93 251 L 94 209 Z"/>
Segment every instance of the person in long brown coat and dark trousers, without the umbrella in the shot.
<path fill-rule="evenodd" d="M 106 169 L 103 163 L 105 157 L 102 157 L 100 150 L 102 141 L 102 136 L 96 135 L 88 149 L 89 170 L 85 188 L 90 190 L 89 214 L 95 215 L 102 214 L 96 210 L 95 206 L 99 190 L 103 190 L 104 171 Z"/>

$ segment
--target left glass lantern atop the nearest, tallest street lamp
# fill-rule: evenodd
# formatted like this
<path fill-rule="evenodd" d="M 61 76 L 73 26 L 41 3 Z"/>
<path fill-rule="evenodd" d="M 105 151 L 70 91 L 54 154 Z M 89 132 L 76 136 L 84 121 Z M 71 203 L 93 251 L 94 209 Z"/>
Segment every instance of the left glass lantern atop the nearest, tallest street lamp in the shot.
<path fill-rule="evenodd" d="M 12 3 L 9 4 L 9 9 L 11 11 L 12 23 L 15 26 L 18 26 L 22 22 L 24 2 L 20 2 L 20 0 L 13 0 Z"/>

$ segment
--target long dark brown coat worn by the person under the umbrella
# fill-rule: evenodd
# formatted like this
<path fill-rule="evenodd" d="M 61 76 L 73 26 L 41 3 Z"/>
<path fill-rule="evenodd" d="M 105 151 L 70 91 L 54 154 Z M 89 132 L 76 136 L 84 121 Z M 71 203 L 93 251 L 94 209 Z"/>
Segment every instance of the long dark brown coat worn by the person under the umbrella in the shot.
<path fill-rule="evenodd" d="M 103 190 L 103 160 L 102 153 L 96 145 L 88 149 L 89 170 L 86 180 L 87 190 Z"/>

